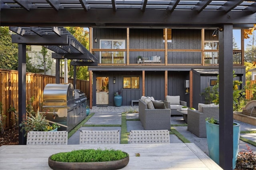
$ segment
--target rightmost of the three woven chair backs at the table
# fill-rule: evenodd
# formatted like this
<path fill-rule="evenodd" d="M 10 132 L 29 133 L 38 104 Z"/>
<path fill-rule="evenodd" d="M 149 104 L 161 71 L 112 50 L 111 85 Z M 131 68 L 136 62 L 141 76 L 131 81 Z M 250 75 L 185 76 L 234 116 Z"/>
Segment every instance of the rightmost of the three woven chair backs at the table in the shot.
<path fill-rule="evenodd" d="M 130 144 L 170 143 L 168 130 L 131 130 Z"/>

